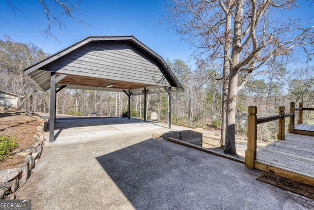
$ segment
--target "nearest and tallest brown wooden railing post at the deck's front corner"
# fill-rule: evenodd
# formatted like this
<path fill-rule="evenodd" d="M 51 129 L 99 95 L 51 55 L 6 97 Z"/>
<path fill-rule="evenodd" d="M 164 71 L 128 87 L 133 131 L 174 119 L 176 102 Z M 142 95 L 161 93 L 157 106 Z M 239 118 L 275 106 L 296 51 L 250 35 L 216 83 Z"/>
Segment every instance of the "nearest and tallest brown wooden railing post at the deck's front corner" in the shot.
<path fill-rule="evenodd" d="M 248 107 L 249 116 L 247 118 L 247 150 L 245 151 L 245 166 L 254 169 L 256 160 L 256 140 L 257 140 L 257 107 Z"/>

